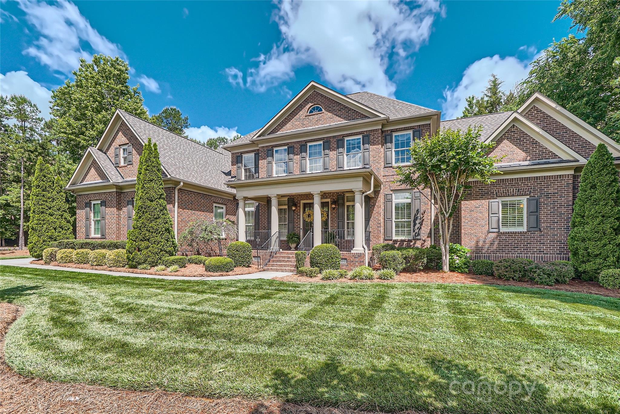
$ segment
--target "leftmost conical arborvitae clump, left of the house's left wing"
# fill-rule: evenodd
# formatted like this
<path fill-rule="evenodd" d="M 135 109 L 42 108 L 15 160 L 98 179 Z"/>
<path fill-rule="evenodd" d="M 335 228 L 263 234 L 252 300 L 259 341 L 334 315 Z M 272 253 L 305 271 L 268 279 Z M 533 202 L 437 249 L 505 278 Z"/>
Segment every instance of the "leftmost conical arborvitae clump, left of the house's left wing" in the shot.
<path fill-rule="evenodd" d="M 59 188 L 60 187 L 60 188 Z M 60 200 L 63 199 L 63 201 Z M 61 211 L 64 209 L 64 212 Z M 54 180 L 49 165 L 39 158 L 30 193 L 28 249 L 32 257 L 41 258 L 51 242 L 73 239 L 68 206 L 60 180 Z"/>

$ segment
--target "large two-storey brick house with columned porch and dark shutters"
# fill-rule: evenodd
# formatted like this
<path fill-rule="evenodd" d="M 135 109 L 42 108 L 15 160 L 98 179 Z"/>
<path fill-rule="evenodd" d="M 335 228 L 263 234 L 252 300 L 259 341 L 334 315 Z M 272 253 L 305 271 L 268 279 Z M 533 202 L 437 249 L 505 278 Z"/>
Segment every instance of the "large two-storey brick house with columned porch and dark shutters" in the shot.
<path fill-rule="evenodd" d="M 108 234 L 126 237 L 135 168 L 123 169 L 123 162 L 116 166 L 112 160 L 115 148 L 123 157 L 123 145 L 136 148 L 151 136 L 160 151 L 169 149 L 162 151 L 162 174 L 170 214 L 177 205 L 174 189 L 183 182 L 178 231 L 194 217 L 211 218 L 211 207 L 219 203 L 236 220 L 239 239 L 255 249 L 273 247 L 277 239 L 277 248 L 288 250 L 286 234 L 294 231 L 302 239 L 297 249 L 333 242 L 344 267 L 352 268 L 365 263 L 368 250 L 381 242 L 422 247 L 438 242 L 432 195 L 396 185 L 394 167 L 410 161 L 415 139 L 438 128 L 470 125 L 482 126 L 480 139 L 495 142 L 492 153 L 505 157 L 494 183 L 472 182 L 451 241 L 472 249 L 474 258 L 568 258 L 580 172 L 599 143 L 608 146 L 620 168 L 620 146 L 613 139 L 538 93 L 513 112 L 441 121 L 436 110 L 370 92 L 342 95 L 317 82 L 262 128 L 219 151 L 118 111 L 69 183 L 78 207 L 84 206 L 78 208 L 78 237 L 86 231 L 87 201 L 108 196 L 116 206 Z M 104 197 L 102 188 L 110 194 Z M 109 213 L 107 221 L 110 226 Z"/>

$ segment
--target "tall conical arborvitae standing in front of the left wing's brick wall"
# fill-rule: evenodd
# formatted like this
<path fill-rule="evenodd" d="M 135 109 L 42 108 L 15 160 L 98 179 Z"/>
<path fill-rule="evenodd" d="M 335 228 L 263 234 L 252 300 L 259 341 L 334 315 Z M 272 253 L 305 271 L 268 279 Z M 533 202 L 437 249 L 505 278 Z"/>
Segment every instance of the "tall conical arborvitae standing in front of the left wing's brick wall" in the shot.
<path fill-rule="evenodd" d="M 166 206 L 164 182 L 157 144 L 151 138 L 144 146 L 138 163 L 133 225 L 127 232 L 127 263 L 156 266 L 178 249 L 172 218 Z"/>

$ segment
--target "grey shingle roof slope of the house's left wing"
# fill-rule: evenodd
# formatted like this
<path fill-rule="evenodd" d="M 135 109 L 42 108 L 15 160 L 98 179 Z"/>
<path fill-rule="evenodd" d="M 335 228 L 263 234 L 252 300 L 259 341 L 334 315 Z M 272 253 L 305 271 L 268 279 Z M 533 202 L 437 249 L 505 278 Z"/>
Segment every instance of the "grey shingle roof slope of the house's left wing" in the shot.
<path fill-rule="evenodd" d="M 170 177 L 234 193 L 225 184 L 231 175 L 230 152 L 216 151 L 128 112 L 119 112 L 139 139 L 146 142 L 151 138 L 157 143 L 162 167 Z"/>

